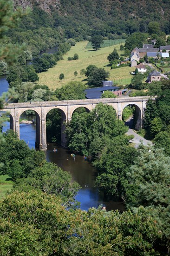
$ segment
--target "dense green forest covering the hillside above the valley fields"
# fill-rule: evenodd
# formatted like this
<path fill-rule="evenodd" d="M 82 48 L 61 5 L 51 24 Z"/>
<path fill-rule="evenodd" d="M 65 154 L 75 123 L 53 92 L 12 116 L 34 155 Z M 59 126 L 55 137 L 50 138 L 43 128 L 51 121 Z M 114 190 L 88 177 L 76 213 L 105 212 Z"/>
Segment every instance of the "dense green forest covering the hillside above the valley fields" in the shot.
<path fill-rule="evenodd" d="M 157 22 L 161 31 L 170 33 L 168 0 L 92 1 L 60 0 L 46 5 L 36 1 L 15 1 L 15 7 L 30 6 L 16 29 L 8 31 L 12 43 L 26 43 L 33 54 L 57 45 L 64 38 L 85 40 L 102 35 L 109 39 L 127 38 L 134 32 L 150 32 L 150 22 Z M 157 14 L 159 13 L 159 14 Z"/>

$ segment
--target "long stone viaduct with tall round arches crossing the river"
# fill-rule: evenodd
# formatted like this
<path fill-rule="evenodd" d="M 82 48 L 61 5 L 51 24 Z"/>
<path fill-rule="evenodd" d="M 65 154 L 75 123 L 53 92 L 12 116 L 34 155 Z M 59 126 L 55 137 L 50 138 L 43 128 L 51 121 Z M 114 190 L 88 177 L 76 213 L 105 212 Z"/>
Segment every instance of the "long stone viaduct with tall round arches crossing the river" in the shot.
<path fill-rule="evenodd" d="M 46 149 L 46 115 L 52 109 L 60 109 L 62 123 L 70 121 L 74 110 L 84 107 L 86 111 L 91 111 L 100 102 L 112 106 L 116 110 L 117 118 L 122 120 L 122 112 L 128 105 L 134 105 L 136 108 L 136 129 L 142 126 L 144 117 L 144 108 L 150 97 L 121 97 L 107 99 L 73 100 L 73 101 L 39 101 L 9 103 L 1 111 L 10 113 L 10 129 L 13 129 L 20 138 L 20 115 L 26 110 L 34 110 L 36 113 L 36 148 Z M 65 146 L 65 126 L 61 126 L 61 145 Z M 29 135 L 28 135 L 29 136 Z"/>

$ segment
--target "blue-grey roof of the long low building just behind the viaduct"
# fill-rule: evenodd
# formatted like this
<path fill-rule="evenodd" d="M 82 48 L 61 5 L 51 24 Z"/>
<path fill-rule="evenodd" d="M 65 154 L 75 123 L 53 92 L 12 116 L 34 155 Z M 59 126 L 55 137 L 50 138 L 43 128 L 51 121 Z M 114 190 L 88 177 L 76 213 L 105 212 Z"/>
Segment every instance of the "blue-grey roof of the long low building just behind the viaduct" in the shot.
<path fill-rule="evenodd" d="M 98 87 L 98 88 L 92 88 L 92 89 L 86 89 L 85 90 L 85 97 L 87 99 L 99 99 L 102 95 L 103 91 L 108 91 L 112 89 L 119 89 L 117 86 L 105 86 L 105 87 Z"/>

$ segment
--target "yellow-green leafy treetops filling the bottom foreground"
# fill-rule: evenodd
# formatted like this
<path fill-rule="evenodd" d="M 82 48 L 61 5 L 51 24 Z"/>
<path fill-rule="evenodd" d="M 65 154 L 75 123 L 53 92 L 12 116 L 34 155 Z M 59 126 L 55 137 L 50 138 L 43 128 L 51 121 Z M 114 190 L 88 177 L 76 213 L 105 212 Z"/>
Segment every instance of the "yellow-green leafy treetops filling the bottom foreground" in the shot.
<path fill-rule="evenodd" d="M 150 215 L 69 211 L 55 195 L 15 191 L 0 205 L 0 255 L 156 255 L 161 232 Z"/>

